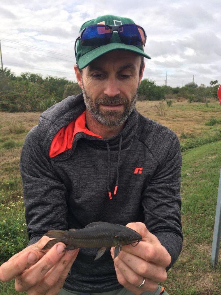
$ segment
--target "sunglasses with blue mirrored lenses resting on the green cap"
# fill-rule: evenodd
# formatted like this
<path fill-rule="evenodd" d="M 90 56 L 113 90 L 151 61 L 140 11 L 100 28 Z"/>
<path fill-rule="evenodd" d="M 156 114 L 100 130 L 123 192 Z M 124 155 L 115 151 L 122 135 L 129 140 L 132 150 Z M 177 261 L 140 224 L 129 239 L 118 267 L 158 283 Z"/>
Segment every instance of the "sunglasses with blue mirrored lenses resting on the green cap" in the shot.
<path fill-rule="evenodd" d="M 145 46 L 146 32 L 141 26 L 136 24 L 121 24 L 118 26 L 111 26 L 107 24 L 94 24 L 88 26 L 79 32 L 75 41 L 75 57 L 76 44 L 80 41 L 81 46 L 102 46 L 110 42 L 113 32 L 118 32 L 122 43 L 133 46 Z"/>

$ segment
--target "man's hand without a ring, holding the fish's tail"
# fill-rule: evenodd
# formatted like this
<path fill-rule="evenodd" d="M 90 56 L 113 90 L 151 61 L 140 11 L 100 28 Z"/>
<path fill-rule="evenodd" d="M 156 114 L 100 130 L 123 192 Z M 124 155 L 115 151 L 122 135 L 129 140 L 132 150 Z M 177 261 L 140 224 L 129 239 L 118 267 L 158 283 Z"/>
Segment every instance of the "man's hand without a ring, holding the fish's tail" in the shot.
<path fill-rule="evenodd" d="M 57 295 L 77 257 L 77 250 L 65 251 L 55 244 L 47 253 L 41 249 L 51 240 L 44 236 L 0 266 L 0 280 L 15 278 L 15 289 L 28 295 Z"/>

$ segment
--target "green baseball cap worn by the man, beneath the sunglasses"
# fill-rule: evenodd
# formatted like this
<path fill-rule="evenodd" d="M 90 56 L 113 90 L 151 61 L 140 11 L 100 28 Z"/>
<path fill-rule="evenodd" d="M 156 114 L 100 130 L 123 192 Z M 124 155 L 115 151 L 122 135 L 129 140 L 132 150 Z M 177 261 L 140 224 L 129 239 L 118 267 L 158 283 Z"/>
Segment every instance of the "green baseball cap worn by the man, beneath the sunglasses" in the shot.
<path fill-rule="evenodd" d="M 129 19 L 126 17 L 117 17 L 115 15 L 103 15 L 101 17 L 97 17 L 96 19 L 92 19 L 85 22 L 80 27 L 80 31 L 94 24 L 107 24 L 107 25 L 117 26 L 120 24 L 134 24 L 134 22 L 132 21 L 132 19 Z M 124 44 L 121 42 L 121 39 L 118 36 L 118 34 L 113 32 L 110 42 L 106 45 L 101 45 L 99 47 L 82 46 L 80 45 L 80 42 L 78 40 L 76 45 L 77 65 L 80 69 L 85 68 L 89 63 L 91 63 L 93 60 L 95 60 L 99 56 L 104 55 L 105 53 L 108 53 L 113 50 L 128 50 L 151 59 L 149 55 L 144 53 L 143 46 Z"/>

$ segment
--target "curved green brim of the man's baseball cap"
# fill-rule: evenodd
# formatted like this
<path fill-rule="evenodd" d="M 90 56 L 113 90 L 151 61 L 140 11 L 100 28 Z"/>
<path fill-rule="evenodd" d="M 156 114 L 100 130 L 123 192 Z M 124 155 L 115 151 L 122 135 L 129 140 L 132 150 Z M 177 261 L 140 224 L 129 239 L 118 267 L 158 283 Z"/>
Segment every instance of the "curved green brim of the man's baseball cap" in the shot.
<path fill-rule="evenodd" d="M 80 69 L 85 68 L 89 63 L 91 63 L 93 60 L 98 58 L 101 55 L 104 55 L 105 53 L 108 53 L 113 50 L 127 50 L 127 51 L 132 51 L 135 52 L 139 55 L 142 55 L 148 59 L 151 59 L 149 55 L 144 53 L 140 48 L 133 46 L 133 45 L 127 45 L 123 43 L 108 43 L 107 45 L 99 46 L 88 53 L 85 53 L 79 58 L 78 61 L 78 67 Z"/>

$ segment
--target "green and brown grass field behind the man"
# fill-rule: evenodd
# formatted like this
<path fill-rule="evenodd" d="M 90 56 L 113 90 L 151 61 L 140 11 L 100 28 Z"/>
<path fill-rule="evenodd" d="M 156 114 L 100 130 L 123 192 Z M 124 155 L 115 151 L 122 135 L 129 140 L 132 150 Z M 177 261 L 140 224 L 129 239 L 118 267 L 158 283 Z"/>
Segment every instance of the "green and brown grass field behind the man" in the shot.
<path fill-rule="evenodd" d="M 146 117 L 174 130 L 181 146 L 185 147 L 181 178 L 184 245 L 163 286 L 171 295 L 220 295 L 221 250 L 218 265 L 215 268 L 210 265 L 221 166 L 221 128 L 217 123 L 221 121 L 220 105 L 173 102 L 166 116 L 160 116 L 154 110 L 156 104 L 156 101 L 138 102 L 137 109 Z M 215 120 L 210 120 L 211 117 Z M 4 253 L 6 242 L 10 243 L 12 239 L 8 236 L 9 230 L 19 236 L 16 249 L 27 243 L 18 167 L 22 142 L 27 130 L 37 124 L 39 113 L 1 113 L 0 118 L 0 226 L 7 233 L 1 233 L 0 241 L 1 253 Z M 216 124 L 205 125 L 206 122 Z M 15 146 L 7 149 L 4 143 L 10 140 L 15 142 Z M 4 206 L 1 207 L 1 204 Z M 14 250 L 12 245 L 7 246 L 11 253 Z M 0 258 L 2 262 L 5 260 L 2 254 Z M 26 293 L 16 292 L 11 281 L 0 282 L 0 295 L 3 294 Z"/>

